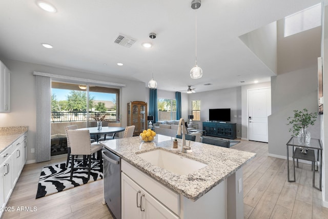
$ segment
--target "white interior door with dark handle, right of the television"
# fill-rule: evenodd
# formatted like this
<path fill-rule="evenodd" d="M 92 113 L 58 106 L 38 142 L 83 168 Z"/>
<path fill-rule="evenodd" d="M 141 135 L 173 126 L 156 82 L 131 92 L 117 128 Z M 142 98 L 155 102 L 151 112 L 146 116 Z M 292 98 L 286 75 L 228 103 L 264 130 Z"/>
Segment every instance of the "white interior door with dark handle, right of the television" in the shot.
<path fill-rule="evenodd" d="M 248 91 L 249 140 L 268 142 L 271 88 Z"/>

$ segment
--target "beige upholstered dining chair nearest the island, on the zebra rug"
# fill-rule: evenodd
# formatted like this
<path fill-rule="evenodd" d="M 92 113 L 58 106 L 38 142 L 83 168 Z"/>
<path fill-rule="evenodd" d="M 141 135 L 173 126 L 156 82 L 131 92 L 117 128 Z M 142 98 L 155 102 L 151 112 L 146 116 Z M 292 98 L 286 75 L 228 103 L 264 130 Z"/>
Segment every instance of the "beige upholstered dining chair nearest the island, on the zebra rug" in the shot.
<path fill-rule="evenodd" d="M 67 130 L 67 136 L 70 141 L 70 147 L 71 147 L 71 177 L 70 180 L 73 179 L 73 171 L 74 169 L 87 169 L 88 168 L 88 181 L 90 179 L 90 172 L 91 169 L 97 165 L 100 164 L 103 165 L 103 158 L 99 154 L 101 152 L 101 149 L 103 146 L 99 144 L 91 144 L 90 142 L 90 132 L 89 130 Z M 98 152 L 98 161 L 95 161 L 91 165 L 91 156 Z M 76 158 L 77 161 L 79 161 L 76 165 L 74 164 L 74 155 L 84 155 L 87 158 Z M 88 166 L 86 165 L 88 163 Z M 74 167 L 75 166 L 75 167 Z"/>

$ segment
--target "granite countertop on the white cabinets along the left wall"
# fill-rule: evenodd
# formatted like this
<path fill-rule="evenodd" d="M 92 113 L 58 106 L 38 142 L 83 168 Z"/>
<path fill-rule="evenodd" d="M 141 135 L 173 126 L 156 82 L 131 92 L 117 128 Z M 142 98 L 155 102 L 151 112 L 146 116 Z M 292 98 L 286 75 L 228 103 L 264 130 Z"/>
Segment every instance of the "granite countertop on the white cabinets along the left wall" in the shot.
<path fill-rule="evenodd" d="M 0 127 L 0 153 L 28 131 L 28 126 Z"/>

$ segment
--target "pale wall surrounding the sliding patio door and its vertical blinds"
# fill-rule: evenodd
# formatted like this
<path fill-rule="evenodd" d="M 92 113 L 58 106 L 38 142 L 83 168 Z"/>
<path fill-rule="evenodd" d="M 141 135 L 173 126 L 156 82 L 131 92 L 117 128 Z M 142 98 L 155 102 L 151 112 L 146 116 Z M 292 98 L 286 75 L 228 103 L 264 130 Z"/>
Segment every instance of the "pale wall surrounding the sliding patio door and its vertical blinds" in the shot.
<path fill-rule="evenodd" d="M 28 131 L 28 162 L 35 160 L 31 148 L 35 145 L 36 106 L 35 106 L 35 77 L 33 71 L 67 75 L 78 78 L 95 79 L 113 83 L 126 84 L 121 89 L 120 114 L 122 124 L 127 124 L 127 103 L 130 101 L 146 101 L 145 83 L 123 80 L 105 75 L 96 75 L 91 72 L 81 72 L 67 69 L 24 63 L 2 58 L 3 63 L 11 71 L 10 101 L 11 112 L 0 113 L 0 127 L 29 126 Z"/>

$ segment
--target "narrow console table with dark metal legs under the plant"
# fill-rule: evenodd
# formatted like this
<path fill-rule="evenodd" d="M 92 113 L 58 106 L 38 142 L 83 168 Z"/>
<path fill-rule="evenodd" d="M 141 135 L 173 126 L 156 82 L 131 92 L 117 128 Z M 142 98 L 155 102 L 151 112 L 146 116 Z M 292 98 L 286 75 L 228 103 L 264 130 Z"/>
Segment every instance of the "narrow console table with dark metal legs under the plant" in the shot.
<path fill-rule="evenodd" d="M 288 172 L 288 182 L 295 182 L 295 159 L 297 159 L 297 167 L 298 160 L 305 160 L 312 162 L 312 171 L 313 171 L 313 179 L 312 186 L 319 191 L 321 191 L 321 177 L 322 177 L 322 144 L 321 140 L 311 138 L 310 143 L 308 145 L 302 145 L 298 143 L 297 137 L 291 137 L 291 139 L 286 144 L 287 147 L 287 172 Z M 294 180 L 290 178 L 290 170 L 289 170 L 289 149 L 293 148 L 293 166 L 294 166 Z M 305 148 L 308 150 L 306 154 L 301 153 L 300 148 Z M 317 151 L 317 158 L 315 157 L 315 152 Z M 318 166 L 319 163 L 319 166 Z M 317 168 L 316 168 L 316 167 Z M 319 187 L 315 186 L 315 171 L 319 171 Z"/>

